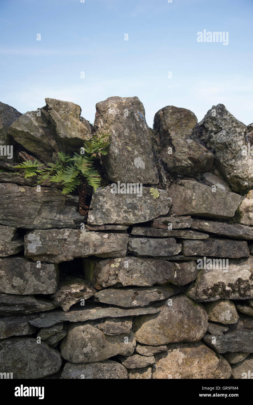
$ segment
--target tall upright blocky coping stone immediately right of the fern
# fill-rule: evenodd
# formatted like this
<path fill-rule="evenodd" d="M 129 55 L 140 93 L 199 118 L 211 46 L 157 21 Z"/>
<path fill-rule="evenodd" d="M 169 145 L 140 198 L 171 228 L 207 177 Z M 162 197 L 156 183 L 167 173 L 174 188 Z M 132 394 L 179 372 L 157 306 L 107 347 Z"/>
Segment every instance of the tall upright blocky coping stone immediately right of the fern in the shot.
<path fill-rule="evenodd" d="M 145 110 L 138 97 L 109 97 L 96 104 L 96 130 L 111 134 L 103 162 L 111 181 L 157 184 L 152 141 Z"/>

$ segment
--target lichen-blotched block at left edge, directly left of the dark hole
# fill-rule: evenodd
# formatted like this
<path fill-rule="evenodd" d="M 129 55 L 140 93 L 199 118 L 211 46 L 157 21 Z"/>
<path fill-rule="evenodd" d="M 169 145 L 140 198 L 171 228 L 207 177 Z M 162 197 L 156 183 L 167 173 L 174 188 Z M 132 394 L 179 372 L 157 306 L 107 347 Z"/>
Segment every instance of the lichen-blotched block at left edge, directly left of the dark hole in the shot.
<path fill-rule="evenodd" d="M 0 258 L 0 292 L 32 295 L 56 292 L 59 274 L 55 264 L 36 263 L 24 257 Z"/>

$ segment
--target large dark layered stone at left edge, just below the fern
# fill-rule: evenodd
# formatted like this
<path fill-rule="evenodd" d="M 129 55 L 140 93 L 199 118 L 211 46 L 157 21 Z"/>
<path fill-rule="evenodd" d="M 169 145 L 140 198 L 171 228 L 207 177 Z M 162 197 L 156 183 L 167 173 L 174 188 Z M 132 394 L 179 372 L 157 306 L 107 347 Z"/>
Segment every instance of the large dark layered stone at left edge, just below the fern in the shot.
<path fill-rule="evenodd" d="M 17 228 L 76 228 L 84 221 L 77 213 L 78 196 L 56 188 L 0 183 L 0 224 Z"/>

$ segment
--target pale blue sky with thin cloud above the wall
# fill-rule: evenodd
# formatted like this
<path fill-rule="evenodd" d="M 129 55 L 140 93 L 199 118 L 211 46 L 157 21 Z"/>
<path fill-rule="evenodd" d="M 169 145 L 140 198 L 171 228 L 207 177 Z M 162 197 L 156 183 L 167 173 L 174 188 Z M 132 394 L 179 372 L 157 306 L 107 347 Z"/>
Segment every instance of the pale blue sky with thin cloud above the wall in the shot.
<path fill-rule="evenodd" d="M 200 121 L 223 103 L 250 124 L 252 20 L 253 0 L 0 0 L 0 101 L 21 113 L 72 101 L 93 123 L 96 102 L 137 96 L 149 126 L 166 105 Z M 228 45 L 197 42 L 205 29 Z"/>

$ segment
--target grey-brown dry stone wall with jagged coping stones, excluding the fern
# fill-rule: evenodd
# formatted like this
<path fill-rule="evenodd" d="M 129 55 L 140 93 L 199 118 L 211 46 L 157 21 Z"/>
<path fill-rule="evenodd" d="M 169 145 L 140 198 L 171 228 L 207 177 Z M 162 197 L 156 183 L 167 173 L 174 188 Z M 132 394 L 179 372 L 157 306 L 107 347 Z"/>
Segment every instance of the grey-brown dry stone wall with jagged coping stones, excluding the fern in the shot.
<path fill-rule="evenodd" d="M 137 97 L 0 103 L 0 372 L 15 379 L 241 379 L 253 372 L 253 125 Z M 43 164 L 111 134 L 88 215 Z M 13 156 L 7 146 L 13 146 Z M 6 148 L 4 148 L 6 146 Z M 11 151 L 11 149 L 9 149 Z M 245 152 L 247 151 L 247 153 Z M 251 153 L 252 151 L 252 153 Z"/>

